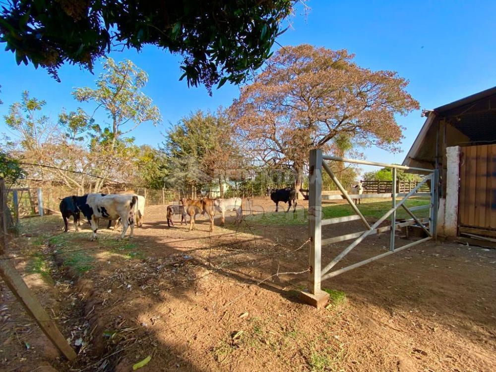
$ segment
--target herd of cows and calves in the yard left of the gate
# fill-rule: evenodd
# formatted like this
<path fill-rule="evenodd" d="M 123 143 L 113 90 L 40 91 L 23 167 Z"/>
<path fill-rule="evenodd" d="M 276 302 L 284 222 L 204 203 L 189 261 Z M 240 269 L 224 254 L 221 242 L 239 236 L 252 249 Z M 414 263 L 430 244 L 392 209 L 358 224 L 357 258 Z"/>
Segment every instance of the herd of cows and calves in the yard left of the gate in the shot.
<path fill-rule="evenodd" d="M 292 187 L 271 190 L 267 192 L 271 200 L 276 204 L 276 212 L 278 211 L 278 203 L 289 202 L 289 211 L 294 205 L 296 210 L 296 191 Z M 80 224 L 80 214 L 88 220 L 92 235 L 91 240 L 97 238 L 96 233 L 98 230 L 98 223 L 100 219 L 108 220 L 107 228 L 110 228 L 112 222 L 115 222 L 115 229 L 119 224 L 122 224 L 121 239 L 124 238 L 126 231 L 130 228 L 129 237 L 132 238 L 134 234 L 134 227 L 140 227 L 143 223 L 143 216 L 145 211 L 145 198 L 137 195 L 134 192 L 124 192 L 120 194 L 102 194 L 102 193 L 89 193 L 82 196 L 67 196 L 60 199 L 60 211 L 64 221 L 64 232 L 67 232 L 67 220 L 72 217 L 75 231 L 78 231 Z M 201 199 L 188 199 L 182 198 L 181 204 L 172 204 L 167 206 L 167 225 L 174 226 L 174 215 L 181 216 L 181 225 L 183 222 L 186 225 L 186 217 L 189 216 L 189 230 L 194 229 L 195 217 L 199 214 L 208 217 L 210 220 L 210 231 L 214 229 L 214 216 L 216 212 L 221 214 L 221 224 L 225 221 L 225 212 L 235 211 L 236 222 L 241 223 L 243 220 L 243 199 L 239 197 L 232 197 L 229 199 L 222 198 L 201 198 Z"/>

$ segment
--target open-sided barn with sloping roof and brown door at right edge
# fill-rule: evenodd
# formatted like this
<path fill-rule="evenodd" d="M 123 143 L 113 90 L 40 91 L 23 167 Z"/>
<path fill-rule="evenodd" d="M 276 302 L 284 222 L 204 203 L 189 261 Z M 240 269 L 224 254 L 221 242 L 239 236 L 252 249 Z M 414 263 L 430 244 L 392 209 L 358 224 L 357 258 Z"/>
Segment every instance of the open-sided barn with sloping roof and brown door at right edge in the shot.
<path fill-rule="evenodd" d="M 496 87 L 423 116 L 403 165 L 438 170 L 438 234 L 496 237 Z"/>

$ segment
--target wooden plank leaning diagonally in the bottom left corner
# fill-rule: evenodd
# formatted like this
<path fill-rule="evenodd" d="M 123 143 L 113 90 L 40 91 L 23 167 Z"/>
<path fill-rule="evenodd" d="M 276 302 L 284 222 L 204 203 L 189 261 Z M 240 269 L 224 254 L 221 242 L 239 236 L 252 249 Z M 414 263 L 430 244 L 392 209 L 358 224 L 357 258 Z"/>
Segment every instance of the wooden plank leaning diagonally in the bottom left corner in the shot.
<path fill-rule="evenodd" d="M 76 353 L 65 340 L 57 324 L 48 316 L 38 299 L 33 295 L 22 277 L 10 264 L 8 258 L 0 257 L 0 275 L 7 287 L 17 297 L 24 309 L 31 315 L 52 343 L 62 352 L 69 361 L 76 358 Z"/>

